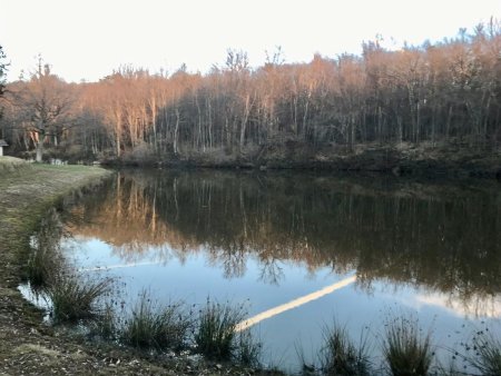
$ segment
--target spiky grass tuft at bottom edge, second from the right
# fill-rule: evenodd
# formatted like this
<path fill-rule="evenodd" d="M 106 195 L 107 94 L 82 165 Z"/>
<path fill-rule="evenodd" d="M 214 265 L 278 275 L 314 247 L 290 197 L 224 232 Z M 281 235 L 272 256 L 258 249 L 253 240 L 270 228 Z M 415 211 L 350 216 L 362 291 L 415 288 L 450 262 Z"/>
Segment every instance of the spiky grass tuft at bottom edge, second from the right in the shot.
<path fill-rule="evenodd" d="M 433 349 L 431 333 L 423 335 L 412 317 L 396 317 L 386 323 L 383 354 L 393 376 L 428 375 Z"/>

